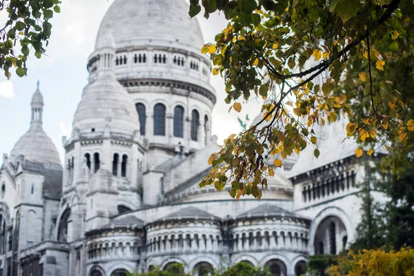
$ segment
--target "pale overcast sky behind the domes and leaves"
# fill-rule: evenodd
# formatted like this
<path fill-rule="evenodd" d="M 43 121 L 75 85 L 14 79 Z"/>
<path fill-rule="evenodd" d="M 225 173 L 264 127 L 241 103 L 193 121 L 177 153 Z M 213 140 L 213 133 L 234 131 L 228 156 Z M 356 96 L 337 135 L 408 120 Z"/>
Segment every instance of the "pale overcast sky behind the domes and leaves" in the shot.
<path fill-rule="evenodd" d="M 153 1 L 153 0 L 148 0 Z M 81 99 L 83 87 L 87 84 L 86 63 L 95 46 L 95 37 L 103 15 L 113 0 L 63 0 L 61 13 L 52 19 L 52 37 L 41 59 L 28 61 L 28 76 L 19 78 L 13 75 L 10 81 L 0 72 L 0 153 L 12 150 L 19 137 L 29 128 L 30 99 L 36 90 L 37 80 L 43 94 L 43 129 L 57 146 L 61 159 L 63 147 L 61 137 L 70 136 L 72 119 Z M 0 12 L 0 28 L 6 14 Z M 213 42 L 215 34 L 221 32 L 226 19 L 215 14 L 210 19 L 197 17 L 205 42 Z M 212 77 L 212 85 L 217 93 L 217 103 L 213 109 L 213 134 L 219 143 L 231 133 L 242 130 L 237 116 L 250 117 L 250 122 L 259 113 L 259 103 L 250 102 L 242 112 L 228 113 L 224 103 L 224 82 L 219 76 Z M 1 163 L 1 161 L 0 161 Z"/>

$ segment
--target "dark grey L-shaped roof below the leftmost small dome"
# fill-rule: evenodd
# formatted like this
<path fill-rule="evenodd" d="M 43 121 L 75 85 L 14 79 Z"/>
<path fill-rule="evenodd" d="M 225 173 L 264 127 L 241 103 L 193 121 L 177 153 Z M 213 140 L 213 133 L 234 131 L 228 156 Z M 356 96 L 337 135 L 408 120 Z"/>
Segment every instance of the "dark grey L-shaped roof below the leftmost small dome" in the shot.
<path fill-rule="evenodd" d="M 43 175 L 43 195 L 59 199 L 62 192 L 62 167 L 59 164 L 44 164 L 24 159 L 21 162 L 24 172 L 34 172 Z"/>

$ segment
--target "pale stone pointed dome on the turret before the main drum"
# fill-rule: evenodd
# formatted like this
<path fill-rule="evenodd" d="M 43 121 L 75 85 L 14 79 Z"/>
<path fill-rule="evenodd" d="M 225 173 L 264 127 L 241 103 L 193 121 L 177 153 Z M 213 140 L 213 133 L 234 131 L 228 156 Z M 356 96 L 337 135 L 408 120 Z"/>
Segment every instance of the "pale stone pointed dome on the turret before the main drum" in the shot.
<path fill-rule="evenodd" d="M 81 134 L 110 132 L 133 136 L 139 131 L 137 110 L 128 92 L 115 79 L 101 78 L 89 83 L 83 90 L 77 106 L 73 128 Z"/>

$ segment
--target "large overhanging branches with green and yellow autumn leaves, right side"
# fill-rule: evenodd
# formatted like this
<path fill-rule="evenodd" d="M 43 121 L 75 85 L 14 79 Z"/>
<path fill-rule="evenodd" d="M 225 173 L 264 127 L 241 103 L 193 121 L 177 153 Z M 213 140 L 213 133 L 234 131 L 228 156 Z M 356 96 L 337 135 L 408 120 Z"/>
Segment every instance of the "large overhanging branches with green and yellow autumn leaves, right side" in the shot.
<path fill-rule="evenodd" d="M 213 170 L 200 186 L 223 190 L 230 183 L 232 197 L 260 199 L 260 187 L 275 174 L 273 166 L 266 166 L 266 155 L 276 157 L 279 167 L 282 159 L 311 144 L 319 157 L 314 126 L 339 116 L 350 120 L 348 137 L 365 144 L 367 155 L 380 146 L 409 150 L 414 120 L 400 115 L 404 98 L 384 76 L 408 39 L 412 13 L 399 8 L 405 2 L 190 0 L 190 16 L 203 6 L 205 17 L 219 10 L 229 20 L 215 43 L 202 49 L 213 60 L 213 74 L 224 77 L 226 103 L 239 112 L 242 102 L 266 99 L 262 121 L 224 141 L 210 157 Z M 353 93 L 347 95 L 342 83 Z M 364 150 L 355 154 L 361 157 Z"/>

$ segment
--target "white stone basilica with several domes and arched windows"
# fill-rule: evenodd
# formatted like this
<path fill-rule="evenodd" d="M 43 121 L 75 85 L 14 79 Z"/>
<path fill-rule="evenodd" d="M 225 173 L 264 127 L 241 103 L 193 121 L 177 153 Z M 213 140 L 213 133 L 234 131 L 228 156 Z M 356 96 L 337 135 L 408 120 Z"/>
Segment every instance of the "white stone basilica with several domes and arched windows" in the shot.
<path fill-rule="evenodd" d="M 0 169 L 0 276 L 124 276 L 175 263 L 206 275 L 238 262 L 297 276 L 308 255 L 353 242 L 366 169 L 344 119 L 319 130 L 319 159 L 308 146 L 284 161 L 261 201 L 199 188 L 219 150 L 211 124 L 225 124 L 211 119 L 203 44 L 186 1 L 115 0 L 63 160 L 43 132 L 52 114 L 37 88 L 29 129 Z"/>

